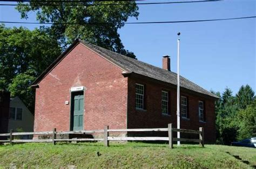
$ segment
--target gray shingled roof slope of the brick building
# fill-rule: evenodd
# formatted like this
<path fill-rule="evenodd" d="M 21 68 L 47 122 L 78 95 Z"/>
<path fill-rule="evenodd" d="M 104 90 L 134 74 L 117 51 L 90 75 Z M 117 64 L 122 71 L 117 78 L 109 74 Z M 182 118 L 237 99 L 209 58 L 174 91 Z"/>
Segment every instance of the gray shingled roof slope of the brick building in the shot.
<path fill-rule="evenodd" d="M 89 44 L 86 42 L 83 43 L 89 46 L 92 50 L 98 52 L 100 55 L 103 55 L 107 58 L 111 58 L 112 60 L 114 60 L 114 62 L 117 62 L 118 64 L 122 65 L 131 72 L 147 76 L 150 78 L 154 78 L 163 82 L 171 83 L 173 85 L 177 85 L 177 73 L 161 69 L 157 66 L 141 62 L 139 60 L 121 55 L 119 53 L 101 48 L 93 44 Z M 180 86 L 188 90 L 192 90 L 198 93 L 206 94 L 214 98 L 218 98 L 218 96 L 215 96 L 215 94 L 212 94 L 211 92 L 203 89 L 202 87 L 198 86 L 197 84 L 194 84 L 193 82 L 182 76 L 180 76 Z"/>

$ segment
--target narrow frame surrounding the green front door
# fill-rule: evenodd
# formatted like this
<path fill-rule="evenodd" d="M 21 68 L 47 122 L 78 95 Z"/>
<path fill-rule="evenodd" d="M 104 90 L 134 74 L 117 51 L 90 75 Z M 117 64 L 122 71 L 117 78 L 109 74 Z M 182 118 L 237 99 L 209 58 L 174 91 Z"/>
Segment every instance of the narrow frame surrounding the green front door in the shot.
<path fill-rule="evenodd" d="M 73 131 L 73 109 L 74 109 L 74 102 L 73 102 L 73 98 L 75 96 L 76 93 L 83 93 L 84 96 L 84 90 L 80 90 L 80 91 L 70 91 L 70 114 L 69 114 L 69 130 Z M 84 107 L 85 107 L 85 97 L 84 97 Z M 83 130 L 84 130 L 84 114 L 85 114 L 85 108 L 84 108 L 84 112 L 83 112 Z"/>

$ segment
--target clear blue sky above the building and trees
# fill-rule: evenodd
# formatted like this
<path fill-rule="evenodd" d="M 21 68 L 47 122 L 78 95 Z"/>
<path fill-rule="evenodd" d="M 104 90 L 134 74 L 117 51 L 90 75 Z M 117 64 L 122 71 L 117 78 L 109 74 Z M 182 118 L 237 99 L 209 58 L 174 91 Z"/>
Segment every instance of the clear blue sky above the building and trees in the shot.
<path fill-rule="evenodd" d="M 0 21 L 24 22 L 25 19 L 20 19 L 14 8 L 0 6 Z M 256 15 L 256 1 L 139 5 L 139 13 L 138 22 L 246 17 Z M 36 22 L 35 13 L 29 13 L 29 21 Z M 130 18 L 129 22 L 137 21 Z M 23 26 L 34 29 L 38 25 Z M 139 60 L 161 67 L 161 57 L 169 55 L 171 70 L 177 72 L 179 31 L 182 76 L 207 90 L 223 92 L 227 86 L 236 93 L 241 85 L 249 84 L 255 91 L 255 18 L 201 23 L 125 25 L 119 33 L 125 48 L 134 52 Z"/>

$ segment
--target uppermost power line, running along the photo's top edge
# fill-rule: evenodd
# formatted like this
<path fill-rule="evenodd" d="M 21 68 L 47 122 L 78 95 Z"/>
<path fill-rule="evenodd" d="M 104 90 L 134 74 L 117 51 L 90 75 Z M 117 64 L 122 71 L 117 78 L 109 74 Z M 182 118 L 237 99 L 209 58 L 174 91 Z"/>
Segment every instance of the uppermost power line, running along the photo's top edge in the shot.
<path fill-rule="evenodd" d="M 197 2 L 218 2 L 218 1 L 223 1 L 223 0 L 205 0 L 205 1 L 176 1 L 176 2 L 147 2 L 147 3 L 136 3 L 136 5 L 156 5 L 156 4 L 177 4 L 177 3 L 197 3 Z M 1 1 L 0 1 L 1 2 Z M 48 2 L 54 2 L 56 1 L 48 1 Z M 47 2 L 47 3 L 48 3 Z M 79 4 L 39 4 L 41 2 L 38 2 L 38 4 L 0 4 L 0 6 L 101 6 L 101 5 L 134 5 L 131 3 L 124 3 L 124 4 L 118 4 L 118 3 L 111 3 L 111 4 L 81 4 L 84 1 L 76 1 L 79 2 Z M 45 2 L 43 2 L 45 3 Z M 71 3 L 71 2 L 70 2 Z"/>

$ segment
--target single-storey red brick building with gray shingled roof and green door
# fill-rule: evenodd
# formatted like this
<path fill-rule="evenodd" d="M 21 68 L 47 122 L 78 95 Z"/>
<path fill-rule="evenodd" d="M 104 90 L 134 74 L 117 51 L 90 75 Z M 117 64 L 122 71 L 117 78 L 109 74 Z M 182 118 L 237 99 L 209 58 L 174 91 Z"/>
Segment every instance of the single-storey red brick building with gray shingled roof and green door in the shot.
<path fill-rule="evenodd" d="M 34 131 L 167 127 L 176 125 L 177 74 L 75 40 L 32 84 Z M 205 127 L 215 141 L 217 96 L 180 77 L 181 129 Z"/>

